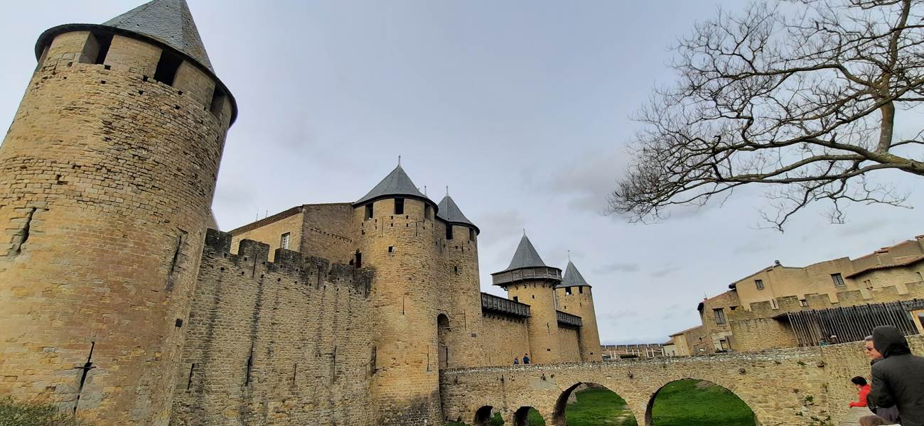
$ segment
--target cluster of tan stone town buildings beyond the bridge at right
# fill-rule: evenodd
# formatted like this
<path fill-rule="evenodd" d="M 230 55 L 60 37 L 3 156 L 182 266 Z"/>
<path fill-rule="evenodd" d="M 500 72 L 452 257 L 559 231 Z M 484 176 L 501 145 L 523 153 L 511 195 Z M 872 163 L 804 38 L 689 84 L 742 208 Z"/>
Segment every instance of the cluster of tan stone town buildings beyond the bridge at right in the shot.
<path fill-rule="evenodd" d="M 799 342 L 797 334 L 814 333 L 816 340 L 834 343 L 845 341 L 843 333 L 841 337 L 836 332 L 821 336 L 817 330 L 794 330 L 797 325 L 792 324 L 792 315 L 808 311 L 823 315 L 836 308 L 859 309 L 892 302 L 903 303 L 898 309 L 903 323 L 924 331 L 920 328 L 924 311 L 918 308 L 924 308 L 924 302 L 916 302 L 924 298 L 922 273 L 924 235 L 857 259 L 840 257 L 804 267 L 783 266 L 777 261 L 736 280 L 729 285 L 730 290 L 699 302 L 702 325 L 672 339 L 682 336 L 693 354 L 698 353 L 693 343 L 699 334 L 706 337 L 706 353 L 808 344 Z"/>

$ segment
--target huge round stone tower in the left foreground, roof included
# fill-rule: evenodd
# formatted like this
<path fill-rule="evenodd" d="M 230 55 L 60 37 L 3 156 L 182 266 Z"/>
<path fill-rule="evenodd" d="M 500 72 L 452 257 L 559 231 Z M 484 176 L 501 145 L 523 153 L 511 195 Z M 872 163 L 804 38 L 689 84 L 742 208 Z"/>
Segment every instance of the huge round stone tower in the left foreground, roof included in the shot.
<path fill-rule="evenodd" d="M 0 395 L 164 425 L 234 99 L 183 0 L 35 51 L 0 146 Z"/>

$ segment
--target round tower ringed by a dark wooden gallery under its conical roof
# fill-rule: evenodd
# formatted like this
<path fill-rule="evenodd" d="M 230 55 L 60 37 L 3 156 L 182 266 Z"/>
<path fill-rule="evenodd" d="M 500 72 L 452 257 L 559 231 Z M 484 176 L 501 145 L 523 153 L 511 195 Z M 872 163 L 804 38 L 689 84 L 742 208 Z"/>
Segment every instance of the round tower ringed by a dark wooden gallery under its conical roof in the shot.
<path fill-rule="evenodd" d="M 491 276 L 495 286 L 507 290 L 509 299 L 529 304 L 530 361 L 562 361 L 554 293 L 555 286 L 562 281 L 562 270 L 546 266 L 524 234 L 510 266 Z"/>

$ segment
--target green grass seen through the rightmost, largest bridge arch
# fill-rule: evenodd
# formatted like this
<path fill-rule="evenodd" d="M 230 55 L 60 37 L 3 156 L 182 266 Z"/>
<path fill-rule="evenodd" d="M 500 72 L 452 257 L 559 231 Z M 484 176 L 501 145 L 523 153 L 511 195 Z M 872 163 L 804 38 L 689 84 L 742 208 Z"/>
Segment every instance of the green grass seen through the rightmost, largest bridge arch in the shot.
<path fill-rule="evenodd" d="M 680 380 L 665 385 L 651 408 L 654 425 L 755 425 L 754 414 L 735 394 L 722 386 L 700 383 L 703 382 Z"/>

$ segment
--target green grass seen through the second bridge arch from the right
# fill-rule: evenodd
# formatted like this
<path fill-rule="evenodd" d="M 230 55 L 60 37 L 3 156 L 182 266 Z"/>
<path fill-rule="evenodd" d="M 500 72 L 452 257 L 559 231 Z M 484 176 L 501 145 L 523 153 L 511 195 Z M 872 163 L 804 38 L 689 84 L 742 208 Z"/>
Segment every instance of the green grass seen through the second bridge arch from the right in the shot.
<path fill-rule="evenodd" d="M 636 426 L 626 401 L 605 387 L 577 392 L 577 403 L 565 408 L 568 426 Z"/>

